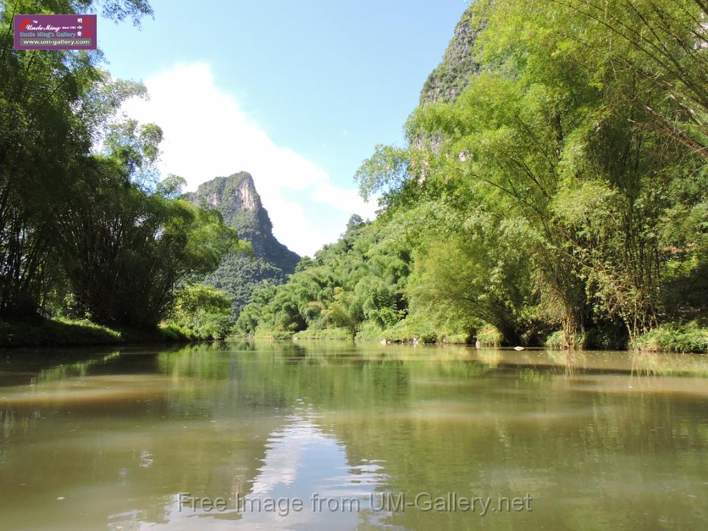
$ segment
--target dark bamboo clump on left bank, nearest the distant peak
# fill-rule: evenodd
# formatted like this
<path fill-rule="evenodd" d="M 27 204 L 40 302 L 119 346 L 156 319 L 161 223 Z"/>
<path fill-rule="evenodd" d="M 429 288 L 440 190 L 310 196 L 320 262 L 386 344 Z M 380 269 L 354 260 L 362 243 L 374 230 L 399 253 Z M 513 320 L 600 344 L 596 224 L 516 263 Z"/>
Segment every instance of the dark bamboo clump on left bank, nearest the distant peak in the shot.
<path fill-rule="evenodd" d="M 234 249 L 236 234 L 218 212 L 133 183 L 142 163 L 125 163 L 116 149 L 117 156 L 87 159 L 86 171 L 67 188 L 57 240 L 78 315 L 103 324 L 155 326 L 173 289 L 217 268 Z"/>

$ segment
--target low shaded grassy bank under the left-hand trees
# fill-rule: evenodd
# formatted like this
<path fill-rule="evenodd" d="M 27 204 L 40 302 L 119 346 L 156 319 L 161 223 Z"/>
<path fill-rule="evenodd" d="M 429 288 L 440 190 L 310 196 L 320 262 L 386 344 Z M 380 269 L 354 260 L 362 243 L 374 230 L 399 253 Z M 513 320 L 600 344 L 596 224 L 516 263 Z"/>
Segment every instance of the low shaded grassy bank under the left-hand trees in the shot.
<path fill-rule="evenodd" d="M 154 329 L 110 329 L 86 320 L 0 321 L 0 347 L 4 348 L 178 343 L 205 339 L 210 338 L 172 324 Z"/>

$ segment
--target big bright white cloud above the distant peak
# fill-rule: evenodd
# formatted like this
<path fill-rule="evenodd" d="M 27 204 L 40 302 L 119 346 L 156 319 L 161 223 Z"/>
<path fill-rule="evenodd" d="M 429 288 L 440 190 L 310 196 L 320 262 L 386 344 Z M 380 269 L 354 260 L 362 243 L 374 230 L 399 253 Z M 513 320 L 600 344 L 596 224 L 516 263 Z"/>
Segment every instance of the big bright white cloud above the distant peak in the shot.
<path fill-rule="evenodd" d="M 273 233 L 293 251 L 312 256 L 343 232 L 343 224 L 316 222 L 317 203 L 374 217 L 375 202 L 364 202 L 353 188 L 338 188 L 317 164 L 276 145 L 234 96 L 215 86 L 208 64 L 176 64 L 144 84 L 149 100 L 133 99 L 123 110 L 162 127 L 162 173 L 183 176 L 188 190 L 195 190 L 216 176 L 248 171 L 273 220 Z M 302 204 L 293 194 L 311 200 Z"/>

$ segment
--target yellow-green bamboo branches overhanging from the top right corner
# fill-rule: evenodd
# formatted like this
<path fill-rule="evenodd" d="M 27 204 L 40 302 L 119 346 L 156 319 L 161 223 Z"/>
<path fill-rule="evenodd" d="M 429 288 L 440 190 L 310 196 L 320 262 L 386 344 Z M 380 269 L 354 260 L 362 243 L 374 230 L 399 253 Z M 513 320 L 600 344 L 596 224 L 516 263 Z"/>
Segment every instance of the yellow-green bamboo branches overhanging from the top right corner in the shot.
<path fill-rule="evenodd" d="M 530 4 L 537 8 L 538 4 Z M 708 4 L 703 0 L 553 0 L 559 16 L 593 25 L 569 32 L 668 96 L 641 103 L 641 120 L 708 159 Z M 576 26 L 577 27 L 577 26 Z"/>

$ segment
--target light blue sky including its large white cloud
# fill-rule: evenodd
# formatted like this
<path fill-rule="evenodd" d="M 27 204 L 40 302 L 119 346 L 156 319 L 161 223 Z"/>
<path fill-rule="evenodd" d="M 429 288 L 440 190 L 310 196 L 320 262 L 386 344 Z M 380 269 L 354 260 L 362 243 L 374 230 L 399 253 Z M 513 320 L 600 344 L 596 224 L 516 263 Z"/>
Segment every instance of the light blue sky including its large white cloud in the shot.
<path fill-rule="evenodd" d="M 127 115 L 164 131 L 159 169 L 188 190 L 248 171 L 300 255 L 373 219 L 353 176 L 403 125 L 465 0 L 151 0 L 141 28 L 99 18 L 108 70 L 142 81 Z"/>

